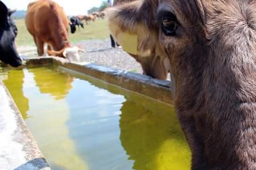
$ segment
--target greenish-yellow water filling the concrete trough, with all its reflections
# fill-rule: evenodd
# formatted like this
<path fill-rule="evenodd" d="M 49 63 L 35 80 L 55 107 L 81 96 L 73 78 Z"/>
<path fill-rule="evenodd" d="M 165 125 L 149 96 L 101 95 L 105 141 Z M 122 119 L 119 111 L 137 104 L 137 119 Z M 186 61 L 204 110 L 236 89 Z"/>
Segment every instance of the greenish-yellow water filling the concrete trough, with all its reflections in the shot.
<path fill-rule="evenodd" d="M 0 72 L 55 170 L 185 170 L 174 108 L 60 67 Z"/>

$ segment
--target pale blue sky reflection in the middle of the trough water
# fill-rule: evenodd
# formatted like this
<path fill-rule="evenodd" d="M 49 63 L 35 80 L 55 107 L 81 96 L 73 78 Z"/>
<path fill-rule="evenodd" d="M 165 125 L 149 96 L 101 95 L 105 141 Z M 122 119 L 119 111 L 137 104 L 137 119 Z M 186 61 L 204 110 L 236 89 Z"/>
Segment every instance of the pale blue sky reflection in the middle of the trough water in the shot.
<path fill-rule="evenodd" d="M 75 79 L 67 96 L 69 136 L 89 169 L 131 169 L 119 141 L 119 110 L 125 101 L 85 80 Z M 128 168 L 127 168 L 128 167 Z"/>

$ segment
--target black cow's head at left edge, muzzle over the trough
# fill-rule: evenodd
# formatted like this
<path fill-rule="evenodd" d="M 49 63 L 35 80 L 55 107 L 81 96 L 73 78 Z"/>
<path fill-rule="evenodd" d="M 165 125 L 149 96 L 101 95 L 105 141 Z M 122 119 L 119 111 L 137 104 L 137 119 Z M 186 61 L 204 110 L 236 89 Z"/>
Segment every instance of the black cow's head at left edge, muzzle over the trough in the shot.
<path fill-rule="evenodd" d="M 10 18 L 14 12 L 0 1 L 0 60 L 13 67 L 18 67 L 22 65 L 22 59 L 19 57 L 15 45 L 18 30 L 14 20 Z"/>

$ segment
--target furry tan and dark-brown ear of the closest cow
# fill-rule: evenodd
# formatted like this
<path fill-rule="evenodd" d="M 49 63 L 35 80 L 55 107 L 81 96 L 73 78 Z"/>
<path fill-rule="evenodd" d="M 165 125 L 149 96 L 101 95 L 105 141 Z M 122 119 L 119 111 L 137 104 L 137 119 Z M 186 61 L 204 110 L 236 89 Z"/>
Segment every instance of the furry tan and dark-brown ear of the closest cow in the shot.
<path fill-rule="evenodd" d="M 118 44 L 123 46 L 127 35 L 131 35 L 131 40 L 137 37 L 137 55 L 148 57 L 154 53 L 159 32 L 155 23 L 157 8 L 157 0 L 134 1 L 108 8 L 109 29 Z"/>

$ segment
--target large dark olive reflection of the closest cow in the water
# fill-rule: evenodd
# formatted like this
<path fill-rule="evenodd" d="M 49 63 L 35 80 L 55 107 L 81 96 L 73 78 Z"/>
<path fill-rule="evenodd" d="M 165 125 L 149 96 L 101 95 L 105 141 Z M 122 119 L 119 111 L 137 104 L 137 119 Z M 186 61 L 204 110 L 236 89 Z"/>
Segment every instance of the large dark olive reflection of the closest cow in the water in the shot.
<path fill-rule="evenodd" d="M 147 101 L 123 103 L 120 139 L 129 159 L 135 161 L 133 169 L 190 168 L 191 154 L 175 111 L 170 113 L 170 107 L 164 106 L 160 109 Z"/>

